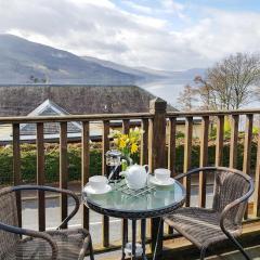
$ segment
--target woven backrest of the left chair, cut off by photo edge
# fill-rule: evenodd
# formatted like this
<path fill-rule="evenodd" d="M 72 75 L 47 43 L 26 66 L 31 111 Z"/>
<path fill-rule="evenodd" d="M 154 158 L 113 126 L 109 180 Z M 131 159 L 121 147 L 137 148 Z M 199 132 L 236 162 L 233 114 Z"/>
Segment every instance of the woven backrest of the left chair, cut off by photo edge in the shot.
<path fill-rule="evenodd" d="M 18 226 L 15 193 L 4 194 L 6 188 L 0 190 L 0 222 Z M 20 235 L 0 230 L 0 259 L 10 250 L 13 250 Z"/>

